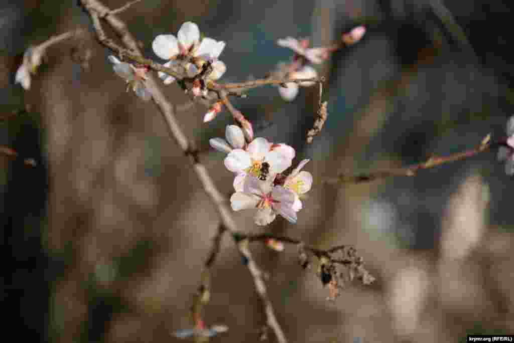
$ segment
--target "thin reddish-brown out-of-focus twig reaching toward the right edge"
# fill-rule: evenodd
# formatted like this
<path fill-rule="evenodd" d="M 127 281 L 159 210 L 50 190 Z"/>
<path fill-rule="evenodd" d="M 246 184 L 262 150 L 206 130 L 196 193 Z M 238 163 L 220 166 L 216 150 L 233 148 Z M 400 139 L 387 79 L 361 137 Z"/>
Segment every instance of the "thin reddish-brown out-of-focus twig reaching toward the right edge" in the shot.
<path fill-rule="evenodd" d="M 492 147 L 497 147 L 501 145 L 501 142 L 491 142 L 490 135 L 486 136 L 482 143 L 476 146 L 473 149 L 461 151 L 460 153 L 455 153 L 448 156 L 434 156 L 429 158 L 425 162 L 420 162 L 411 166 L 403 167 L 403 168 L 390 168 L 390 169 L 382 169 L 377 170 L 376 172 L 370 174 L 361 174 L 361 175 L 346 175 L 339 174 L 337 178 L 326 180 L 327 183 L 364 183 L 371 182 L 378 179 L 385 179 L 392 176 L 416 176 L 418 170 L 420 169 L 430 169 L 442 164 L 465 160 L 467 158 L 476 156 L 484 151 L 489 150 Z"/>

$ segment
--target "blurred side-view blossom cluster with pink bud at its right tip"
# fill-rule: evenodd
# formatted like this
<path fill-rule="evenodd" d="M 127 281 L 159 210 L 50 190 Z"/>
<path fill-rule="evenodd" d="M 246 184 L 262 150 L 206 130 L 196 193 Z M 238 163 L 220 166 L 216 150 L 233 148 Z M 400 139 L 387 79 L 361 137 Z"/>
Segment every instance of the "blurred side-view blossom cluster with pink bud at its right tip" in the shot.
<path fill-rule="evenodd" d="M 352 31 L 344 33 L 341 40 L 346 45 L 352 45 L 360 41 L 365 32 L 366 29 L 364 26 L 358 26 Z M 340 48 L 339 45 L 309 48 L 309 40 L 297 40 L 293 37 L 280 39 L 277 41 L 277 44 L 295 52 L 292 57 L 292 62 L 288 65 L 280 65 L 278 71 L 279 74 L 283 74 L 284 76 L 292 79 L 316 79 L 318 77 L 318 72 L 310 64 L 321 64 L 325 62 L 333 51 Z M 299 86 L 310 87 L 314 84 L 315 82 L 309 81 L 300 82 L 298 84 L 295 82 L 288 82 L 286 83 L 287 87 L 279 87 L 279 93 L 284 100 L 292 101 L 298 94 Z"/>

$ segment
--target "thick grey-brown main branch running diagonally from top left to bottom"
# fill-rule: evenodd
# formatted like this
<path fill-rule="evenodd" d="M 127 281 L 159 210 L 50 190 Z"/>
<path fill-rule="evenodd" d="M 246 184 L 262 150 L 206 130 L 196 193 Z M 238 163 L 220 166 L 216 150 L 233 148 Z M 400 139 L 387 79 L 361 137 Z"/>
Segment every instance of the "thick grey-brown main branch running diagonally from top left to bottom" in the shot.
<path fill-rule="evenodd" d="M 123 52 L 128 51 L 126 49 L 118 47 L 113 41 L 107 39 L 105 33 L 102 30 L 98 15 L 100 13 L 109 12 L 109 9 L 105 7 L 102 3 L 100 3 L 98 0 L 81 0 L 81 3 L 94 21 L 93 23 L 95 31 L 97 33 L 97 38 L 100 44 L 108 47 L 109 49 L 112 49 L 114 52 L 118 54 L 122 54 Z M 141 59 L 141 61 L 145 60 L 140 57 L 141 52 L 139 51 L 136 40 L 128 32 L 125 24 L 121 22 L 116 17 L 116 15 L 107 15 L 103 19 L 120 36 L 122 42 L 133 51 L 133 53 L 131 54 L 134 57 Z M 146 61 L 143 61 L 141 63 L 153 67 L 152 64 L 149 64 Z M 167 70 L 160 71 L 168 72 Z M 170 74 L 173 75 L 173 73 Z M 188 139 L 183 134 L 182 129 L 178 125 L 178 122 L 175 118 L 175 113 L 173 111 L 173 106 L 166 100 L 166 98 L 164 98 L 163 94 L 160 92 L 152 77 L 148 79 L 148 85 L 150 86 L 149 89 L 152 93 L 152 99 L 168 126 L 170 136 L 175 139 L 178 147 L 183 151 L 183 153 L 186 156 L 190 157 L 190 162 L 193 166 L 194 172 L 196 173 L 198 181 L 203 186 L 205 193 L 209 196 L 211 201 L 216 206 L 218 214 L 221 217 L 223 226 L 232 234 L 237 233 L 237 226 L 232 218 L 231 209 L 228 206 L 228 199 L 225 196 L 223 196 L 221 192 L 219 192 L 212 178 L 207 172 L 206 167 L 200 163 L 197 151 L 190 146 Z M 237 244 L 237 246 L 241 254 L 243 254 L 248 260 L 248 270 L 250 271 L 250 274 L 253 277 L 255 289 L 257 290 L 259 296 L 261 297 L 261 300 L 264 303 L 268 325 L 276 334 L 278 341 L 280 343 L 286 343 L 287 339 L 282 331 L 282 328 L 280 327 L 280 324 L 277 321 L 277 318 L 274 315 L 271 302 L 269 301 L 269 298 L 267 296 L 266 285 L 262 279 L 262 272 L 253 260 L 250 251 L 248 249 L 242 249 L 241 244 Z"/>

